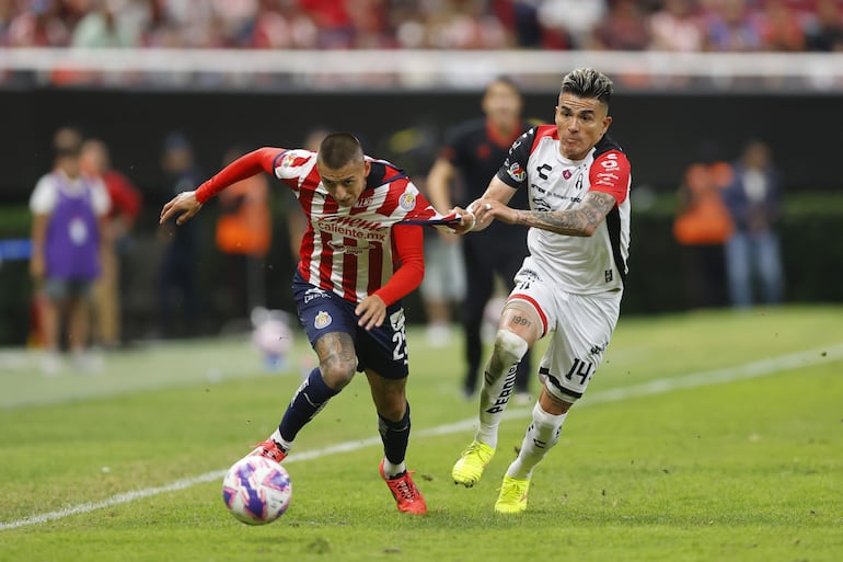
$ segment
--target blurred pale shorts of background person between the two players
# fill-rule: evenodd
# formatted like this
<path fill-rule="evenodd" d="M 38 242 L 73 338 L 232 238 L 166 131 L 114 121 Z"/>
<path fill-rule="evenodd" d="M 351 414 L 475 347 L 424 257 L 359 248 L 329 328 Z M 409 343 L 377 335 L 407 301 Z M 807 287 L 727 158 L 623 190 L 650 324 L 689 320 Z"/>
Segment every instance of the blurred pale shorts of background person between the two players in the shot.
<path fill-rule="evenodd" d="M 459 302 L 465 297 L 465 264 L 460 242 L 449 244 L 439 236 L 425 238 L 425 278 L 422 298 Z"/>

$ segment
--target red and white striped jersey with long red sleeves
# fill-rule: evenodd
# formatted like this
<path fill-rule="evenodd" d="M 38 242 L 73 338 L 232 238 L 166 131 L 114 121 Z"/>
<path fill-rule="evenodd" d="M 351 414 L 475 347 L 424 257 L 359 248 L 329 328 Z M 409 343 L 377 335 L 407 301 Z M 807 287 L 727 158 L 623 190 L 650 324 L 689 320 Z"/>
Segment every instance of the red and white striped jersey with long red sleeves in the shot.
<path fill-rule="evenodd" d="M 316 152 L 273 147 L 223 168 L 196 190 L 196 199 L 205 203 L 262 171 L 274 174 L 292 190 L 308 218 L 299 262 L 304 280 L 353 302 L 377 294 L 389 306 L 418 287 L 424 276 L 422 229 L 401 222 L 443 217 L 402 170 L 366 159 L 370 172 L 353 207 L 340 206 L 322 185 Z"/>

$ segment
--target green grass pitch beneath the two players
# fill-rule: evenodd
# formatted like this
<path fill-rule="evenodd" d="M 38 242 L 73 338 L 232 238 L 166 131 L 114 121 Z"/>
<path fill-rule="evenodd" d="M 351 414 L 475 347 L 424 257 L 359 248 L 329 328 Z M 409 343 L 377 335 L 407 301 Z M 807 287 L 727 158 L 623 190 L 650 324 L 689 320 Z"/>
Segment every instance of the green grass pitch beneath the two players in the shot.
<path fill-rule="evenodd" d="M 455 486 L 450 469 L 470 424 L 426 429 L 470 420 L 476 405 L 459 392 L 459 345 L 430 349 L 411 330 L 407 461 L 429 515 L 399 514 L 380 481 L 374 414 L 358 377 L 300 434 L 287 464 L 288 513 L 246 527 L 224 509 L 221 472 L 277 424 L 299 356 L 309 356 L 302 343 L 296 372 L 284 376 L 262 374 L 254 352 L 232 340 L 116 354 L 97 376 L 45 378 L 26 359 L 7 363 L 0 561 L 817 562 L 843 552 L 841 308 L 623 318 L 516 517 L 492 506 L 530 406 L 510 404 L 481 483 Z M 805 366 L 772 362 L 757 378 L 622 395 L 800 352 Z M 373 444 L 296 460 L 363 439 Z M 183 490 L 9 528 L 200 475 Z"/>

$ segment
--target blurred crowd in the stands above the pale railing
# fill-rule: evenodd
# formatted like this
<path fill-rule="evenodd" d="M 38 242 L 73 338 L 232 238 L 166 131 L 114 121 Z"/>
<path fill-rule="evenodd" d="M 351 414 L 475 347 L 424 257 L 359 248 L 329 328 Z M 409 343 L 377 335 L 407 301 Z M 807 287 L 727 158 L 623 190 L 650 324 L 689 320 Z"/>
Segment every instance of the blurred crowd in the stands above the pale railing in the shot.
<path fill-rule="evenodd" d="M 3 47 L 843 50 L 841 0 L 0 0 Z"/>

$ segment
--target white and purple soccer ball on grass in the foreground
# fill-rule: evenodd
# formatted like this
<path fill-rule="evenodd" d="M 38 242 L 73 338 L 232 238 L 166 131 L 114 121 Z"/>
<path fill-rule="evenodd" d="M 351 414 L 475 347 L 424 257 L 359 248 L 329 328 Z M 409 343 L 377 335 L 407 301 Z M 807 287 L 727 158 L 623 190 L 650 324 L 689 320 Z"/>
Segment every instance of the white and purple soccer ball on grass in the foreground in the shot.
<path fill-rule="evenodd" d="M 238 520 L 266 525 L 290 505 L 292 482 L 287 470 L 262 456 L 243 457 L 222 479 L 222 500 Z"/>

